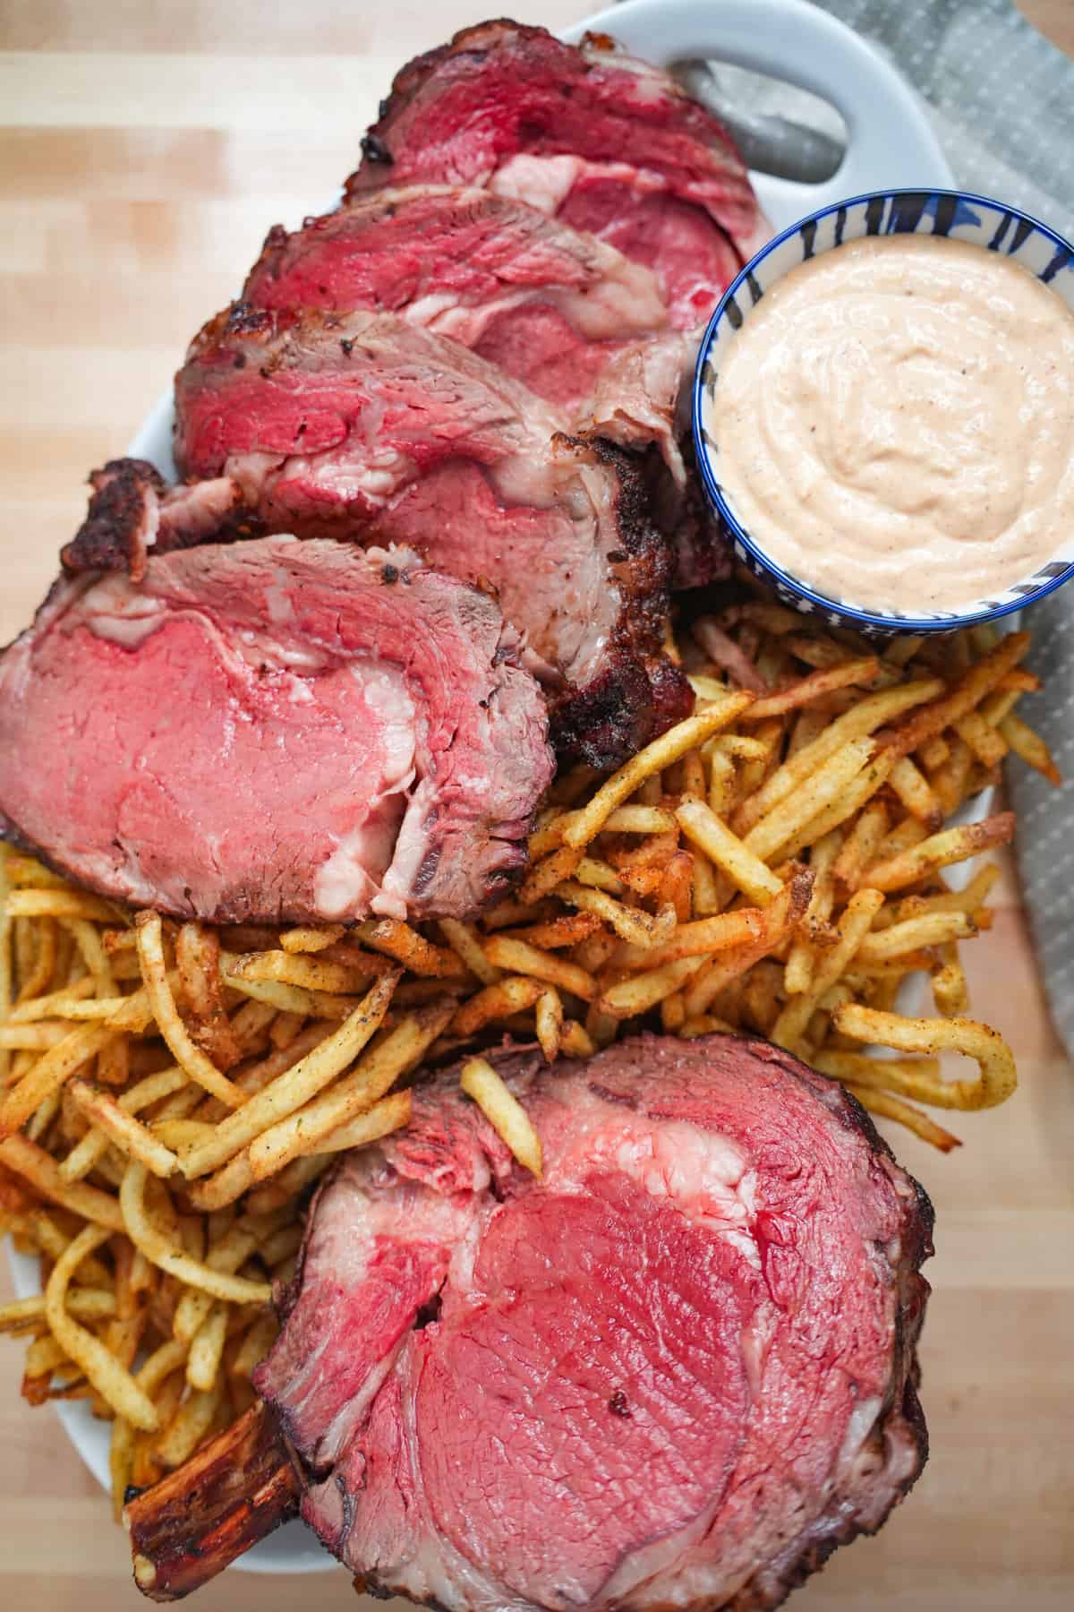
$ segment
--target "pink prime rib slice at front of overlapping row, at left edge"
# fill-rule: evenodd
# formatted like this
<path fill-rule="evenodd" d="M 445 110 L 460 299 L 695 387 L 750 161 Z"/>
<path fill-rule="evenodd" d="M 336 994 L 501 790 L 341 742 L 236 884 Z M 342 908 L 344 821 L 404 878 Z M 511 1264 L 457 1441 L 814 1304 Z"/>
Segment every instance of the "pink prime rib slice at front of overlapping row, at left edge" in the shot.
<path fill-rule="evenodd" d="M 552 759 L 517 635 L 409 550 L 258 538 L 64 579 L 0 659 L 0 827 L 217 922 L 477 911 Z"/>

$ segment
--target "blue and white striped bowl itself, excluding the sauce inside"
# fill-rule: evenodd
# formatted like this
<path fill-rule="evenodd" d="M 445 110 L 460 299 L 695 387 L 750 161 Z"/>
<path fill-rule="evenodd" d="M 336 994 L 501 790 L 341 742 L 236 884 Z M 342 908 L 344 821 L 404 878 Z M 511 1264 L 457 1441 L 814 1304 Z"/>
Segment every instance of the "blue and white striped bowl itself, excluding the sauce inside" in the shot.
<path fill-rule="evenodd" d="M 812 213 L 770 240 L 723 293 L 708 321 L 694 374 L 694 443 L 710 503 L 721 516 L 734 553 L 778 596 L 805 616 L 820 616 L 832 627 L 853 627 L 866 637 L 900 632 L 953 632 L 974 622 L 993 621 L 1034 604 L 1074 575 L 1074 532 L 1056 532 L 1055 556 L 993 598 L 974 600 L 956 611 L 905 616 L 897 611 L 861 609 L 853 600 L 829 598 L 781 569 L 750 537 L 720 480 L 720 447 L 712 430 L 713 390 L 720 364 L 737 330 L 765 292 L 807 258 L 831 251 L 863 235 L 944 235 L 989 251 L 1002 251 L 1031 269 L 1074 310 L 1074 247 L 1047 224 L 1018 208 L 965 190 L 876 190 Z"/>

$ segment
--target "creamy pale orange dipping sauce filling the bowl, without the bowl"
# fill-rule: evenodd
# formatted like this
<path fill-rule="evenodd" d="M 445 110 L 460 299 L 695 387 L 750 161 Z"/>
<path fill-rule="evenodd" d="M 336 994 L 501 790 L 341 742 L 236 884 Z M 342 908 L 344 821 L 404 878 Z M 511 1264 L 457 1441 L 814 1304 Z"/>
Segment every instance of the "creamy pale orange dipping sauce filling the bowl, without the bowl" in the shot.
<path fill-rule="evenodd" d="M 731 342 L 710 421 L 746 532 L 837 600 L 956 609 L 1074 534 L 1074 313 L 984 247 L 886 235 L 802 263 Z"/>

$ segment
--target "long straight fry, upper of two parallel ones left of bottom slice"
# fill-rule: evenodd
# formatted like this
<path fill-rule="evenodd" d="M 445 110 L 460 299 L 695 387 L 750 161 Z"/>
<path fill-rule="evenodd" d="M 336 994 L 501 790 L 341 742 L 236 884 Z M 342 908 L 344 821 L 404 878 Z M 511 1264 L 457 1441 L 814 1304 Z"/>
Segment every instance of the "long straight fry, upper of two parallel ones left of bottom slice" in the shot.
<path fill-rule="evenodd" d="M 185 1153 L 180 1164 L 184 1175 L 192 1180 L 224 1164 L 353 1064 L 383 1022 L 396 982 L 398 975 L 377 980 L 333 1035 L 251 1096 L 238 1112 L 221 1120 L 211 1141 Z"/>

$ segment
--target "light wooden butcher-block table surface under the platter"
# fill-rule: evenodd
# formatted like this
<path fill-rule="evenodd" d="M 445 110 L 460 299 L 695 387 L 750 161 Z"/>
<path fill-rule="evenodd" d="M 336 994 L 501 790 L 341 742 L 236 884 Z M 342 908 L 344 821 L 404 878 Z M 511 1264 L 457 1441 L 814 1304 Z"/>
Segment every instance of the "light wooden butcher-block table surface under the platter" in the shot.
<path fill-rule="evenodd" d="M 583 5 L 512 10 L 557 26 Z M 1074 0 L 1024 10 L 1074 52 Z M 266 227 L 330 205 L 394 68 L 481 15 L 473 0 L 0 0 L 0 642 L 52 580 L 85 472 L 122 451 Z M 1074 1607 L 1074 1069 L 1010 877 L 968 953 L 1021 1090 L 960 1116 L 953 1157 L 895 1138 L 937 1207 L 934 1454 L 884 1533 L 841 1551 L 795 1612 Z M 19 1373 L 21 1348 L 0 1341 L 0 1607 L 140 1606 L 105 1496 L 55 1415 L 19 1401 Z M 340 1570 L 230 1572 L 196 1606 L 296 1597 L 354 1604 Z"/>

